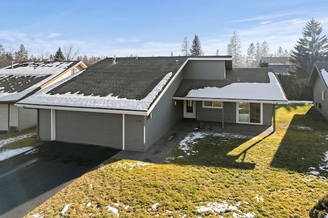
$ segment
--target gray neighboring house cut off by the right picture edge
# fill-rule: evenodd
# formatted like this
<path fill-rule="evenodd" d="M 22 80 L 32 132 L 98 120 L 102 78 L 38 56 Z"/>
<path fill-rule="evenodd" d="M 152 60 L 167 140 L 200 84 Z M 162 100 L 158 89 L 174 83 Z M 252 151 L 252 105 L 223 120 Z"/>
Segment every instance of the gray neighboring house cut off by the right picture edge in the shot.
<path fill-rule="evenodd" d="M 313 86 L 313 104 L 328 119 L 328 62 L 316 62 L 308 81 Z"/>

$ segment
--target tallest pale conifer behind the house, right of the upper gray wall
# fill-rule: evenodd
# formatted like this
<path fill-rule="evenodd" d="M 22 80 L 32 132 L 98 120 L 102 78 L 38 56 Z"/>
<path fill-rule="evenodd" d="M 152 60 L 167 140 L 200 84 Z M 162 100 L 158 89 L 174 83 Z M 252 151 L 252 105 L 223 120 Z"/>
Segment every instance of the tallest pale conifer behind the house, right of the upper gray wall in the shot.
<path fill-rule="evenodd" d="M 230 43 L 227 48 L 227 55 L 232 56 L 232 65 L 234 68 L 238 68 L 242 66 L 242 56 L 241 56 L 241 41 L 237 32 L 232 33 L 232 37 L 230 38 Z"/>

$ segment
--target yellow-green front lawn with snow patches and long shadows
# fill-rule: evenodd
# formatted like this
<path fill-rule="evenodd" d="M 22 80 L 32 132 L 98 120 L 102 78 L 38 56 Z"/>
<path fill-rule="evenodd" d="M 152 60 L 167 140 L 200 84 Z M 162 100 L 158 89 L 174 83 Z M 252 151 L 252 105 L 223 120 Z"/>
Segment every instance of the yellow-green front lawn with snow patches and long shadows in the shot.
<path fill-rule="evenodd" d="M 165 164 L 109 159 L 26 217 L 309 217 L 328 123 L 312 104 L 276 112 L 278 137 L 190 133 Z"/>

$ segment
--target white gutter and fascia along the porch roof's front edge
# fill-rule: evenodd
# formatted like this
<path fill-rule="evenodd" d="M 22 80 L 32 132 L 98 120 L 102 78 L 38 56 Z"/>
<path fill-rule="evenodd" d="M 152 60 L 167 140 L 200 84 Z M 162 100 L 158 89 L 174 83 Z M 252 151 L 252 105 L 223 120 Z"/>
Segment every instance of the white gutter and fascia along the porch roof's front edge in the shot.
<path fill-rule="evenodd" d="M 254 100 L 254 99 L 226 99 L 226 98 L 190 98 L 173 97 L 174 100 L 194 100 L 194 101 L 223 101 L 223 102 L 250 102 L 250 103 L 268 103 L 268 104 L 288 104 L 288 100 Z"/>

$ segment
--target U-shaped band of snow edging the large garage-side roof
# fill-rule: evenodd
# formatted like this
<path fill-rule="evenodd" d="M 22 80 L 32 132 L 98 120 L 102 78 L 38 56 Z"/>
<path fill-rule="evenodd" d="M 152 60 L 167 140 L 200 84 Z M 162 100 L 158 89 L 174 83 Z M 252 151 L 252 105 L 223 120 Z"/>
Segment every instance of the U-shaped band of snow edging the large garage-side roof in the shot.
<path fill-rule="evenodd" d="M 162 80 L 155 86 L 155 88 L 141 100 L 118 98 L 117 96 L 85 96 L 83 94 L 65 93 L 65 94 L 47 94 L 55 86 L 60 85 L 81 74 L 80 71 L 60 82 L 49 86 L 48 88 L 35 93 L 21 101 L 19 104 L 36 104 L 36 105 L 52 105 L 52 106 L 68 106 L 68 107 L 88 107 L 88 108 L 104 108 L 112 110 L 131 110 L 131 111 L 148 111 L 149 106 L 155 100 L 156 96 L 161 92 L 163 87 L 167 84 L 173 73 L 170 72 L 162 78 Z"/>

